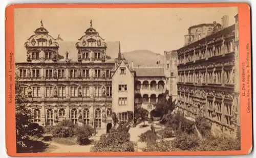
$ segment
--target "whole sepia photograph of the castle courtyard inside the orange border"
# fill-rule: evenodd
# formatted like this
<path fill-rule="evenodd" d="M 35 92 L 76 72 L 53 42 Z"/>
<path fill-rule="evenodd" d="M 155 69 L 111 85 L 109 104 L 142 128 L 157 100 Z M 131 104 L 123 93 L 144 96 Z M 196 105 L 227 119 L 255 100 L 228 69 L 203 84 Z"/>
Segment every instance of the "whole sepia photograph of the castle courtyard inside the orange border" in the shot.
<path fill-rule="evenodd" d="M 17 153 L 241 150 L 238 7 L 14 9 Z"/>

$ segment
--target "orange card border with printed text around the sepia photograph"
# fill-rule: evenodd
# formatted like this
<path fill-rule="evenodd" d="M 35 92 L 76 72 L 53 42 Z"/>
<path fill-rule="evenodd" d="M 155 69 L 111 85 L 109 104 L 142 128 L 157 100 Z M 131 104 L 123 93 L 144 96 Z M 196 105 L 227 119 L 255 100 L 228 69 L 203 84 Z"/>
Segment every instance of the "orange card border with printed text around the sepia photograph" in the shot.
<path fill-rule="evenodd" d="M 201 8 L 201 7 L 238 7 L 239 16 L 239 51 L 240 51 L 240 83 L 242 83 L 242 62 L 249 62 L 251 77 L 251 25 L 250 6 L 246 3 L 205 3 L 205 4 L 16 4 L 6 7 L 5 17 L 5 61 L 6 61 L 6 151 L 9 156 L 161 156 L 161 155 L 241 155 L 252 150 L 252 104 L 251 80 L 246 85 L 250 97 L 241 95 L 241 150 L 239 151 L 170 151 L 170 152 L 122 152 L 122 153 L 16 153 L 15 138 L 15 101 L 9 103 L 9 95 L 15 100 L 14 92 L 14 9 L 15 8 Z M 249 54 L 246 59 L 246 45 Z M 12 55 L 13 54 L 13 55 Z M 249 58 L 249 60 L 248 60 Z M 12 69 L 12 70 L 10 70 Z M 12 80 L 10 80 L 12 77 Z M 250 78 L 251 79 L 251 78 Z M 12 88 L 11 88 L 12 86 Z M 9 91 L 12 91 L 10 93 Z M 249 100 L 248 100 L 249 99 Z M 247 102 L 249 103 L 247 104 Z M 248 112 L 249 111 L 249 112 Z"/>

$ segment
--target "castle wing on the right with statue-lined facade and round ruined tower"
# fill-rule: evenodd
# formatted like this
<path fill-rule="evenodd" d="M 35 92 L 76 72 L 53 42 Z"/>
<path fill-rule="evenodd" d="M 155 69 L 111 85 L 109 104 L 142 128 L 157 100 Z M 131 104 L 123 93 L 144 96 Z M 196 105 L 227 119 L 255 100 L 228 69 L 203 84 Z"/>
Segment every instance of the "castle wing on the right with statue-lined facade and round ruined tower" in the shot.
<path fill-rule="evenodd" d="M 233 135 L 240 126 L 238 15 L 228 26 L 194 25 L 178 53 L 178 109 L 187 117 L 201 114 L 214 130 Z"/>

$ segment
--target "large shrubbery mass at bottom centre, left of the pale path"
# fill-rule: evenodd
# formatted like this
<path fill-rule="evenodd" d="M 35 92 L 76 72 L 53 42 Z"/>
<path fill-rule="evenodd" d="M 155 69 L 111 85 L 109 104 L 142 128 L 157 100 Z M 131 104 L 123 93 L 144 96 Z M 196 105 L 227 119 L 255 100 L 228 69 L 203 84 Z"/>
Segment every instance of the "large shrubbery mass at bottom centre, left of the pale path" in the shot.
<path fill-rule="evenodd" d="M 134 143 L 130 141 L 129 126 L 119 122 L 117 129 L 100 136 L 100 140 L 91 148 L 91 152 L 133 152 Z"/>

